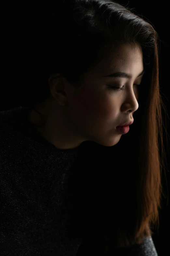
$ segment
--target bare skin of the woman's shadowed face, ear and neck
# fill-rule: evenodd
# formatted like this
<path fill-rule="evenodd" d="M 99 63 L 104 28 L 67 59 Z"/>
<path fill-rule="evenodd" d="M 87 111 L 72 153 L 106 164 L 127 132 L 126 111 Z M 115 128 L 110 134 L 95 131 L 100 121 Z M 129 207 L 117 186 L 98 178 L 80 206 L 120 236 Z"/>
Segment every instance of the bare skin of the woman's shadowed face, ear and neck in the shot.
<path fill-rule="evenodd" d="M 138 88 L 134 84 L 141 83 L 143 76 L 137 76 L 142 71 L 141 47 L 122 44 L 86 73 L 79 88 L 65 77 L 54 78 L 61 75 L 54 74 L 50 97 L 35 106 L 44 115 L 46 126 L 35 129 L 59 149 L 76 148 L 84 141 L 116 145 L 122 136 L 116 126 L 132 121 L 138 109 Z M 104 77 L 115 72 L 128 73 L 132 78 Z M 124 90 L 116 91 L 107 85 Z M 41 122 L 34 110 L 27 119 L 35 124 Z"/>

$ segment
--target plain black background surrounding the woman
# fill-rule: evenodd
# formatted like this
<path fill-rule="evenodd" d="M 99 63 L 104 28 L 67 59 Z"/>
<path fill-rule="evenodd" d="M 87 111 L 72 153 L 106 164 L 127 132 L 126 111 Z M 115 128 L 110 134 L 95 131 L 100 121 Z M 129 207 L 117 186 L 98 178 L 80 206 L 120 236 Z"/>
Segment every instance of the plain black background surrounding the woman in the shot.
<path fill-rule="evenodd" d="M 169 8 L 168 1 L 117 1 L 127 7 L 135 10 L 145 20 L 151 22 L 160 37 L 160 55 L 159 55 L 159 82 L 160 92 L 163 102 L 170 116 L 170 78 L 169 78 Z M 41 3 L 41 8 L 50 8 L 50 1 Z M 1 91 L 0 91 L 0 111 L 20 107 L 29 104 L 30 91 L 34 91 L 34 83 L 37 77 L 41 76 L 38 70 L 38 63 L 35 63 L 34 43 L 36 43 L 36 23 L 38 19 L 37 7 L 39 3 L 21 2 L 21 4 L 9 3 L 1 5 Z M 43 54 L 43 52 L 42 52 Z M 39 73 L 40 72 L 40 73 Z M 30 90 L 31 88 L 31 90 Z M 164 118 L 164 115 L 163 115 Z M 167 132 L 170 135 L 169 120 L 167 118 Z M 165 123 L 166 124 L 166 123 Z M 166 144 L 166 136 L 163 137 L 166 156 L 167 169 L 166 178 L 163 172 L 163 191 L 166 197 L 162 198 L 162 209 L 160 210 L 159 231 L 154 231 L 152 236 L 158 256 L 169 255 L 170 243 L 170 211 L 169 211 L 169 193 L 170 184 L 170 157 L 169 148 Z M 168 142 L 170 142 L 168 138 Z"/>

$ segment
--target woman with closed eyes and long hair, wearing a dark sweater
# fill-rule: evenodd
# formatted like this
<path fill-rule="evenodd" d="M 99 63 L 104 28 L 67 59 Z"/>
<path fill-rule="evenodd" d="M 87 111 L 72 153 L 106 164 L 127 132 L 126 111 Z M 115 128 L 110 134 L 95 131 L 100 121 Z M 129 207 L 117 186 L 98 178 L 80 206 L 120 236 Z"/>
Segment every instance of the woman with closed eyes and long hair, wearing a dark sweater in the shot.
<path fill-rule="evenodd" d="M 22 226 L 10 226 L 12 251 L 4 221 L 4 255 L 156 256 L 151 229 L 159 226 L 164 156 L 157 32 L 115 1 L 64 0 L 38 38 L 48 84 L 36 84 L 27 112 L 13 110 L 26 136 L 13 168 L 27 175 L 23 182 L 19 172 L 20 189 L 11 189 Z M 4 129 L 16 129 L 13 119 L 1 112 Z M 14 159 L 11 138 L 3 152 Z"/>

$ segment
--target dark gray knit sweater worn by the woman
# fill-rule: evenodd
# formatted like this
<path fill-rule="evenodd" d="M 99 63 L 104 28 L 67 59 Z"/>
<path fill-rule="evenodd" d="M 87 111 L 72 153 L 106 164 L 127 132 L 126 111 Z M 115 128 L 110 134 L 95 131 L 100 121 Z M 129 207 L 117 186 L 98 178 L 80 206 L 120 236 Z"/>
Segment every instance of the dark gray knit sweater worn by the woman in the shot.
<path fill-rule="evenodd" d="M 71 191 L 78 185 L 83 144 L 57 149 L 29 125 L 28 110 L 0 112 L 0 255 L 91 255 L 72 212 L 77 194 Z M 157 256 L 157 252 L 149 237 L 115 255 Z"/>

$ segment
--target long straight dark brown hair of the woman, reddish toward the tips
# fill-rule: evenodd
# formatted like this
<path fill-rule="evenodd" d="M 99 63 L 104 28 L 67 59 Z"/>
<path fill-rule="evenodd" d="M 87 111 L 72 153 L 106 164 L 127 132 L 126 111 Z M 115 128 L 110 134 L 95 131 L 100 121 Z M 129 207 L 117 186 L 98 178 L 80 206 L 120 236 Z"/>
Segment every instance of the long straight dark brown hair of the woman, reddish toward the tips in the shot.
<path fill-rule="evenodd" d="M 79 198 L 82 236 L 91 237 L 93 246 L 99 246 L 100 238 L 105 253 L 114 246 L 140 244 L 159 227 L 163 195 L 162 110 L 166 108 L 159 88 L 159 36 L 149 21 L 112 0 L 57 1 L 49 14 L 45 19 L 42 12 L 45 22 L 38 34 L 44 84 L 36 84 L 32 107 L 50 96 L 52 75 L 60 73 L 80 86 L 86 73 L 113 48 L 125 43 L 142 49 L 145 74 L 135 122 L 117 145 L 84 144 L 88 150 L 82 160 L 83 177 L 88 175 L 89 185 L 83 178 Z"/>

